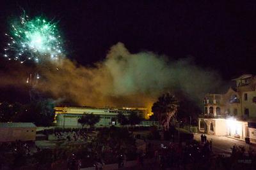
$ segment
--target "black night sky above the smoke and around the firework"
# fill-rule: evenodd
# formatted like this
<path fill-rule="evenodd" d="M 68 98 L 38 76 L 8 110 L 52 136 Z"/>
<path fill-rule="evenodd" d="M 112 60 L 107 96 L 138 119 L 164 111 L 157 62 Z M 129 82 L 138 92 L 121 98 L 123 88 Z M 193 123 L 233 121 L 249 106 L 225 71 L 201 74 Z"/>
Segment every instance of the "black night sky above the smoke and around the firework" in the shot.
<path fill-rule="evenodd" d="M 66 53 L 84 66 L 106 57 L 122 42 L 132 52 L 147 50 L 195 64 L 230 80 L 256 73 L 256 2 L 208 1 L 5 1 L 0 4 L 0 53 L 9 21 L 22 10 L 59 21 Z M 6 62 L 0 59 L 0 69 Z"/>

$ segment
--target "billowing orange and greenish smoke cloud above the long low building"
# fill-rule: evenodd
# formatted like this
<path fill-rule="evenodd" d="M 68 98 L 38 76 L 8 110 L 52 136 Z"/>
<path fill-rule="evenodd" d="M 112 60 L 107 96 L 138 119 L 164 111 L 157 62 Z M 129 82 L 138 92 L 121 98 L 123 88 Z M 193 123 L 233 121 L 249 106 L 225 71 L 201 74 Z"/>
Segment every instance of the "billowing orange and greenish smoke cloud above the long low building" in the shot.
<path fill-rule="evenodd" d="M 182 92 L 195 101 L 220 85 L 219 76 L 190 59 L 168 60 L 151 52 L 130 53 L 112 46 L 102 62 L 80 66 L 64 59 L 36 68 L 35 89 L 80 106 L 148 106 L 164 92 Z"/>

